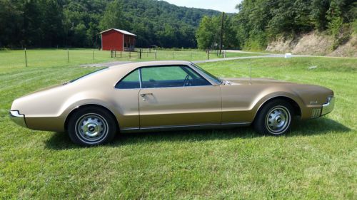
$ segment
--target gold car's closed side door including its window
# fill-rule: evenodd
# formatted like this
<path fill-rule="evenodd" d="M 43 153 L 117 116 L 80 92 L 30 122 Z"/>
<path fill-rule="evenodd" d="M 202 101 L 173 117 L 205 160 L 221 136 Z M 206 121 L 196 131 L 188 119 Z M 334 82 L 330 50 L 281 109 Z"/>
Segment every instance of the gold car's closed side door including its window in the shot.
<path fill-rule="evenodd" d="M 141 129 L 221 123 L 221 89 L 186 65 L 140 68 Z"/>

